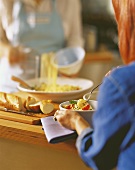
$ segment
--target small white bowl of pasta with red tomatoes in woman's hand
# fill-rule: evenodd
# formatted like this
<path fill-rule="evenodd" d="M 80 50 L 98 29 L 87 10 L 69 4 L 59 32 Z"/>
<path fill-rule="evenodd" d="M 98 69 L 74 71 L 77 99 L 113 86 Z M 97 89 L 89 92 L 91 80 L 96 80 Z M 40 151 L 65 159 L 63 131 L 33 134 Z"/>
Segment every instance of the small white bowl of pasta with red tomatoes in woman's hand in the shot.
<path fill-rule="evenodd" d="M 92 115 L 97 109 L 97 101 L 84 99 L 70 100 L 59 105 L 60 110 L 77 111 L 88 123 L 92 125 Z"/>

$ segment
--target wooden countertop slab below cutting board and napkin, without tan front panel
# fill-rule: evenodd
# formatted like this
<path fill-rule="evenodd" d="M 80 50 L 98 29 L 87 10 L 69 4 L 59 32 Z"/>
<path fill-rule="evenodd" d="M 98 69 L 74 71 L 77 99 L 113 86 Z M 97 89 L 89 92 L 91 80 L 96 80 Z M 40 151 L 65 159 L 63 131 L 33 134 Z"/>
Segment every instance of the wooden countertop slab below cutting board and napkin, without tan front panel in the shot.
<path fill-rule="evenodd" d="M 0 137 L 54 148 L 56 150 L 68 151 L 75 154 L 77 153 L 75 148 L 75 139 L 70 139 L 58 144 L 48 143 L 41 125 L 30 125 L 21 122 L 0 119 Z"/>

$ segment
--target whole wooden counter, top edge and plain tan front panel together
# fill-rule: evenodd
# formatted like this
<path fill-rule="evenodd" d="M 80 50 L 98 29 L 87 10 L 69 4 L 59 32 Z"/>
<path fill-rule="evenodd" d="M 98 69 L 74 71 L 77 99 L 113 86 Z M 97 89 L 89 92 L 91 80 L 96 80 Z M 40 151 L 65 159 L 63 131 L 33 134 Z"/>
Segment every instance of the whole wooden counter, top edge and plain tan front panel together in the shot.
<path fill-rule="evenodd" d="M 50 144 L 41 124 L 0 119 L 0 164 L 4 170 L 89 170 L 79 157 L 75 142 L 74 138 Z"/>

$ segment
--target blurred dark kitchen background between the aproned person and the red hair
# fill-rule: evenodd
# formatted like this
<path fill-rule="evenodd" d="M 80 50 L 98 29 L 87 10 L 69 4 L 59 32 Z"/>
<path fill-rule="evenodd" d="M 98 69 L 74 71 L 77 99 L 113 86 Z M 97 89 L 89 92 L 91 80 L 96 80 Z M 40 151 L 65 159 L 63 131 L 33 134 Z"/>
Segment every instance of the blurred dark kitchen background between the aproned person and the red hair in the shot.
<path fill-rule="evenodd" d="M 79 76 L 97 85 L 109 70 L 123 64 L 117 25 L 111 0 L 81 0 L 81 3 L 86 59 Z"/>

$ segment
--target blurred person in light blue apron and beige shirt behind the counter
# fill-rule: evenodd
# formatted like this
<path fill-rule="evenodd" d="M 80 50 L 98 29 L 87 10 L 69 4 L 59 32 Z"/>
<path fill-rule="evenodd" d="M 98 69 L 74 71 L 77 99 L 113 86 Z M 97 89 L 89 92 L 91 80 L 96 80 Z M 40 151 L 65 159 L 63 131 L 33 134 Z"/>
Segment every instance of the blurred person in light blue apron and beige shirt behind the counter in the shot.
<path fill-rule="evenodd" d="M 23 48 L 41 55 L 83 45 L 79 0 L 0 0 L 0 91 L 14 86 Z"/>

